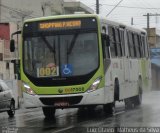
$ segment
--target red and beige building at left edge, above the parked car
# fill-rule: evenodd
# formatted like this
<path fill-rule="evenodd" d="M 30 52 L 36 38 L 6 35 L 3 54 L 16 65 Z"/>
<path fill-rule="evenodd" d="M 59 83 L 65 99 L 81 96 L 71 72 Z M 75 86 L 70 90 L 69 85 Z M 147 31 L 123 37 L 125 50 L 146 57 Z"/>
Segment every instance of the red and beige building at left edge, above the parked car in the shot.
<path fill-rule="evenodd" d="M 10 31 L 14 28 L 14 24 L 0 23 L 0 79 L 13 80 L 14 64 L 11 59 L 15 58 L 15 53 L 10 52 Z"/>

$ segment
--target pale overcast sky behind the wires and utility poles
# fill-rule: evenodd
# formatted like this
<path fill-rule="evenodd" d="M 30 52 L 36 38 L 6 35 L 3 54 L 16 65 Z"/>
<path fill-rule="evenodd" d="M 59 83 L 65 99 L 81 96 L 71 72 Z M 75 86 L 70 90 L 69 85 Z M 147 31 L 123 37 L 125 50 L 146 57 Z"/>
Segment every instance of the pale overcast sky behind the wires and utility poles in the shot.
<path fill-rule="evenodd" d="M 78 0 L 77 0 L 78 1 Z M 79 0 L 95 10 L 96 0 Z M 99 0 L 100 14 L 107 15 L 121 0 Z M 145 28 L 147 13 L 160 14 L 160 0 L 122 0 L 119 6 L 108 16 L 109 19 Z M 160 29 L 160 16 L 150 17 L 150 27 Z"/>

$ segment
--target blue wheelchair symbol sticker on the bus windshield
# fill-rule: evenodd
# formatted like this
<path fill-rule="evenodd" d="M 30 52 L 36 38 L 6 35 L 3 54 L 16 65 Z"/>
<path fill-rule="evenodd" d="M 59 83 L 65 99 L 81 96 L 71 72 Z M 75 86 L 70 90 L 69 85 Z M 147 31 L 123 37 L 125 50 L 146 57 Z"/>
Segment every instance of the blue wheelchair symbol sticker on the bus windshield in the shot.
<path fill-rule="evenodd" d="M 71 64 L 65 64 L 62 65 L 62 75 L 63 76 L 70 76 L 73 73 L 72 65 Z"/>

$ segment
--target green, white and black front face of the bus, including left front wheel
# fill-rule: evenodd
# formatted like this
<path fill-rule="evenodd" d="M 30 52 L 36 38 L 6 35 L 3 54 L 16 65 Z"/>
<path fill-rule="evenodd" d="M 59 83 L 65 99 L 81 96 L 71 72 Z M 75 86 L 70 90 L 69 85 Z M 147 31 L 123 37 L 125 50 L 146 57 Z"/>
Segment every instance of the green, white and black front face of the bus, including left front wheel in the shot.
<path fill-rule="evenodd" d="M 42 107 L 51 117 L 57 108 L 104 103 L 98 25 L 94 15 L 24 23 L 21 78 L 26 107 Z"/>

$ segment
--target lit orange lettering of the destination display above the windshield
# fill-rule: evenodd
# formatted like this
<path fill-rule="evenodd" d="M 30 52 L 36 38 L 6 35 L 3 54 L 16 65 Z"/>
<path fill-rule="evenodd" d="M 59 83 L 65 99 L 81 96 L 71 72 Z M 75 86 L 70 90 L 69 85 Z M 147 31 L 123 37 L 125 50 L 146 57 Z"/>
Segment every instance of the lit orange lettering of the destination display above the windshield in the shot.
<path fill-rule="evenodd" d="M 39 23 L 40 30 L 58 30 L 58 29 L 81 28 L 81 20 L 59 21 L 59 22 L 42 22 Z"/>

